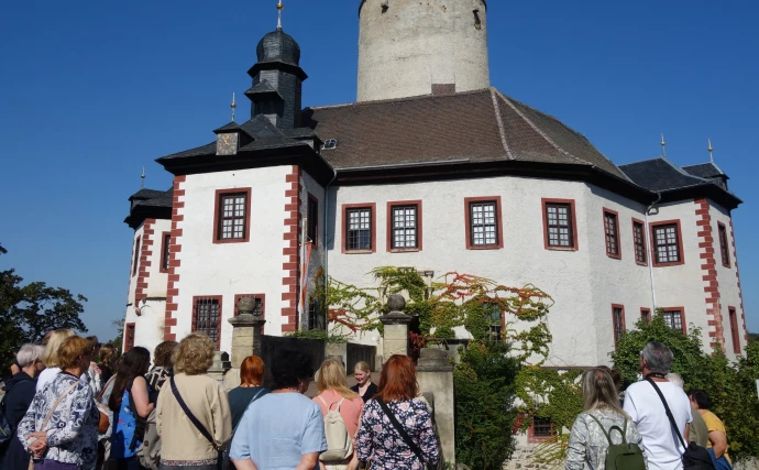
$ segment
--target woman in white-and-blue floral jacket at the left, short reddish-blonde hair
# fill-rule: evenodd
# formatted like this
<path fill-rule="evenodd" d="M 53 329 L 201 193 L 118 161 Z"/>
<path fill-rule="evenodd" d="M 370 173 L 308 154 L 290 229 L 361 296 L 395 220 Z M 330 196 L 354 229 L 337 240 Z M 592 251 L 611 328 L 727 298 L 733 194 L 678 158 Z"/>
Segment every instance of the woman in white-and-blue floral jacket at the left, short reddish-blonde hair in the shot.
<path fill-rule="evenodd" d="M 92 390 L 79 380 L 89 369 L 91 354 L 85 338 L 67 338 L 56 354 L 61 372 L 34 395 L 19 424 L 19 440 L 37 469 L 95 469 L 100 413 Z"/>

